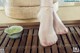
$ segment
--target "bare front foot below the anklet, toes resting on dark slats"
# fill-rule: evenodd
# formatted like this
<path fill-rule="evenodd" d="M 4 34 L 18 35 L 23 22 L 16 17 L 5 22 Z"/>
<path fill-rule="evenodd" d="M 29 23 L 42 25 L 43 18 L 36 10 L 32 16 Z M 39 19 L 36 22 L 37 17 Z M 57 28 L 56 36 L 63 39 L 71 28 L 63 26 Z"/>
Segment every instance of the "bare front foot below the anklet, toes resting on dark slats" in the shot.
<path fill-rule="evenodd" d="M 42 46 L 51 46 L 58 40 L 53 28 L 53 14 L 51 9 L 42 8 L 38 14 L 40 20 L 39 40 Z"/>

